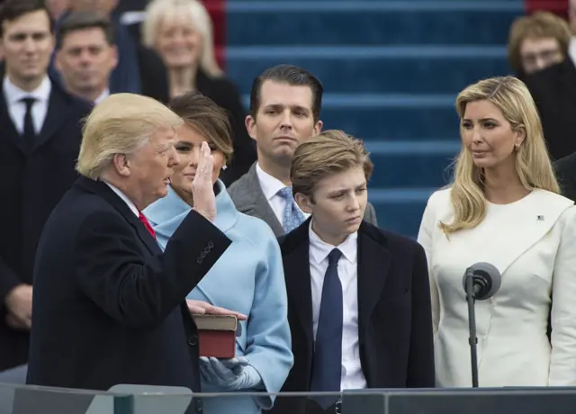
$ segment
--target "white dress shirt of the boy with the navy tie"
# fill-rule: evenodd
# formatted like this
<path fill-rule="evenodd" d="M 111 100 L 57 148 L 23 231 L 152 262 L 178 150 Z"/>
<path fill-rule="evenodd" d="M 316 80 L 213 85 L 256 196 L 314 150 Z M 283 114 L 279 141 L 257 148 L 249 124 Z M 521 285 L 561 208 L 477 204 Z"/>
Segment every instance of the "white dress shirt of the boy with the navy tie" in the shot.
<path fill-rule="evenodd" d="M 328 256 L 335 247 L 342 252 L 338 260 L 338 278 L 342 284 L 342 377 L 341 390 L 359 390 L 366 387 L 366 380 L 360 364 L 360 345 L 358 342 L 358 233 L 353 233 L 339 246 L 325 243 L 312 230 L 310 235 L 310 275 L 312 289 L 312 321 L 314 339 L 318 330 L 320 302 L 324 275 L 328 269 Z"/>

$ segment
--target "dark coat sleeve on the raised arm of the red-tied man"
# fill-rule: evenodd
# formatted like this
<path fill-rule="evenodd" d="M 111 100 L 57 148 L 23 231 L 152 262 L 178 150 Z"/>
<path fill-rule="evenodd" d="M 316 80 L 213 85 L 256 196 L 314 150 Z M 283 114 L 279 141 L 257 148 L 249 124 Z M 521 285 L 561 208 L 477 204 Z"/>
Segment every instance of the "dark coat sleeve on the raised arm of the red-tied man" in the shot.
<path fill-rule="evenodd" d="M 142 257 L 126 221 L 113 212 L 88 216 L 76 240 L 80 290 L 121 324 L 156 326 L 208 273 L 231 243 L 191 211 L 163 255 Z"/>

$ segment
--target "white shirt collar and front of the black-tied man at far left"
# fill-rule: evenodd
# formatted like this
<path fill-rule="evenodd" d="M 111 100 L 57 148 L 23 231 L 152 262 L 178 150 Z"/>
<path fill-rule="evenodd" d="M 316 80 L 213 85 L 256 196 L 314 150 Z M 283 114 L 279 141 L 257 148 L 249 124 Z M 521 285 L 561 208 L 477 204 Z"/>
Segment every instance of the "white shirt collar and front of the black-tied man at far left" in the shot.
<path fill-rule="evenodd" d="M 10 113 L 14 127 L 16 127 L 16 130 L 21 135 L 24 133 L 24 115 L 26 114 L 26 103 L 23 103 L 22 99 L 36 99 L 36 102 L 32 105 L 32 122 L 34 124 L 34 130 L 39 134 L 46 120 L 50 91 L 52 90 L 49 77 L 44 77 L 35 90 L 26 92 L 14 85 L 8 76 L 4 76 L 3 88 L 6 104 L 8 105 L 8 113 Z"/>

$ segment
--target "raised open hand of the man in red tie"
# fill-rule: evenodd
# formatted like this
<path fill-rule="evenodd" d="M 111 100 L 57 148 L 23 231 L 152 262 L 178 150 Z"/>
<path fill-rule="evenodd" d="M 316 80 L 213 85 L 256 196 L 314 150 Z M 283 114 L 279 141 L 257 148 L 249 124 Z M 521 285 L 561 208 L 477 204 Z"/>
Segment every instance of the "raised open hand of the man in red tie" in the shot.
<path fill-rule="evenodd" d="M 196 175 L 192 182 L 194 210 L 206 219 L 213 221 L 216 218 L 216 195 L 212 183 L 212 168 L 214 158 L 206 141 L 200 147 L 200 159 L 196 167 Z"/>

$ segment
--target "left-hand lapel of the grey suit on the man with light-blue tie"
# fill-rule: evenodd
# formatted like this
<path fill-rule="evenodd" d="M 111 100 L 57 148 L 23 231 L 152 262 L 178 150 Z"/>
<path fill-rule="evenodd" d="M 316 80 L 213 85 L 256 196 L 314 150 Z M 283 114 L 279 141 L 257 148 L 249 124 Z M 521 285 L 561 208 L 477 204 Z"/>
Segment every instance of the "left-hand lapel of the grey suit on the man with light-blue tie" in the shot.
<path fill-rule="evenodd" d="M 256 163 L 254 163 L 246 174 L 246 190 L 244 192 L 245 199 L 238 205 L 238 211 L 244 212 L 250 216 L 255 216 L 261 220 L 265 220 L 268 226 L 274 231 L 276 237 L 284 234 L 284 228 L 275 212 L 270 207 L 270 203 L 266 200 L 266 196 L 260 187 L 260 181 L 256 172 Z"/>

